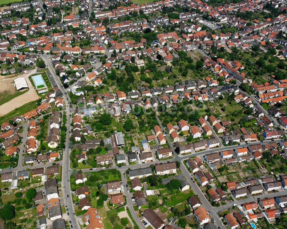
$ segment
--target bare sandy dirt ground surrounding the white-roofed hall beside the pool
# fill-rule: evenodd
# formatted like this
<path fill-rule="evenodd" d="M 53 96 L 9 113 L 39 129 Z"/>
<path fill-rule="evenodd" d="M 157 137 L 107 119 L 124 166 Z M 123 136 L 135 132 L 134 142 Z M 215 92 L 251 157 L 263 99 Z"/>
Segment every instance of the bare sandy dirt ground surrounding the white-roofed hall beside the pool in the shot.
<path fill-rule="evenodd" d="M 4 103 L 0 106 L 0 116 L 3 116 L 10 111 L 13 111 L 15 108 L 22 106 L 25 103 L 34 101 L 36 99 L 39 99 L 40 97 L 37 95 L 33 85 L 31 84 L 28 77 L 32 74 L 36 73 L 36 69 L 32 70 L 28 74 L 22 74 L 18 75 L 17 77 L 7 78 L 7 76 L 0 76 L 0 90 L 1 91 L 11 91 L 14 92 L 15 89 L 13 87 L 14 79 L 17 79 L 19 77 L 24 77 L 26 79 L 26 82 L 29 87 L 29 91 L 26 93 L 19 95 L 18 97 L 11 99 L 9 102 Z"/>

